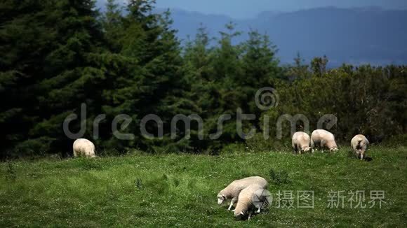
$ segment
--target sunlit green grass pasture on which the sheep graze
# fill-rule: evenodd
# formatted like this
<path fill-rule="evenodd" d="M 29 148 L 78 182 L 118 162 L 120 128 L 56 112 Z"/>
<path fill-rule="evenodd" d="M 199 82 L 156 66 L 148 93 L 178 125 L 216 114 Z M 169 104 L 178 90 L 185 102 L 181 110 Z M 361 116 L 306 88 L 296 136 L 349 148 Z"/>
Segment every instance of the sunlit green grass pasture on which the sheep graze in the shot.
<path fill-rule="evenodd" d="M 347 151 L 6 162 L 0 164 L 0 227 L 406 227 L 406 148 L 371 148 L 368 156 L 371 162 Z M 269 180 L 274 198 L 279 190 L 314 191 L 314 209 L 276 208 L 273 201 L 251 221 L 234 220 L 216 194 L 254 175 Z M 328 192 L 339 190 L 365 190 L 366 202 L 369 191 L 384 190 L 386 204 L 352 209 L 345 201 L 345 208 L 327 208 Z"/>

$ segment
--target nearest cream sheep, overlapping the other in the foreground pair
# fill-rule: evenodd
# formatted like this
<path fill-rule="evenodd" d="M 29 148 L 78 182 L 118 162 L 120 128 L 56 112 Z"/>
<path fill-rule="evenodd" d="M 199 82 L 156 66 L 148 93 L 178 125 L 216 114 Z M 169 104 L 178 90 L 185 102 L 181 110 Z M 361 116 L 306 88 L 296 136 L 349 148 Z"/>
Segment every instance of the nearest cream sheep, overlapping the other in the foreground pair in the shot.
<path fill-rule="evenodd" d="M 266 201 L 264 187 L 258 184 L 248 185 L 239 194 L 239 201 L 234 209 L 234 218 L 241 220 L 248 213 L 248 220 L 250 220 L 253 211 L 257 208 L 255 213 L 260 213 L 260 209 L 266 204 Z"/>

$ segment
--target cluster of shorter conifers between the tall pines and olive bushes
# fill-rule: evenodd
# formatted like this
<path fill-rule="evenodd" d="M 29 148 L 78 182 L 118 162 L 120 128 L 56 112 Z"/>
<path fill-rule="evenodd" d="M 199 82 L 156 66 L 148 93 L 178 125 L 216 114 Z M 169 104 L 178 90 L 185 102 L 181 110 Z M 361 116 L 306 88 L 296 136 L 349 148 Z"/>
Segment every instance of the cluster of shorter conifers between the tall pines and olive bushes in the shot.
<path fill-rule="evenodd" d="M 251 31 L 248 41 L 234 45 L 233 39 L 240 33 L 227 24 L 218 45 L 211 47 L 211 38 L 204 27 L 189 41 L 185 48 L 185 69 L 192 83 L 192 97 L 200 108 L 205 121 L 205 140 L 197 148 L 217 150 L 225 142 L 241 142 L 236 134 L 236 112 L 251 113 L 260 117 L 261 110 L 255 106 L 255 93 L 261 87 L 272 86 L 279 78 L 281 69 L 276 59 L 276 49 L 267 36 Z M 211 140 L 218 130 L 218 119 L 223 114 L 231 115 L 224 122 L 220 138 Z M 258 120 L 243 122 L 243 131 L 258 128 Z"/>

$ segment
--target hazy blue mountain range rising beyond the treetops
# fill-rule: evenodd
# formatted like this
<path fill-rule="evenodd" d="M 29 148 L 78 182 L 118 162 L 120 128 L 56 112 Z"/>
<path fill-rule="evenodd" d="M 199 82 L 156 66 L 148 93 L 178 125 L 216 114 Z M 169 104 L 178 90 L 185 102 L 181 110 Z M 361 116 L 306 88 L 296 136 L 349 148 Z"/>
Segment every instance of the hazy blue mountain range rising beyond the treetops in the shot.
<path fill-rule="evenodd" d="M 251 20 L 171 11 L 173 27 L 184 41 L 187 36 L 194 37 L 200 24 L 208 28 L 211 36 L 218 36 L 225 24 L 235 22 L 239 31 L 258 29 L 269 34 L 283 63 L 293 62 L 300 52 L 307 61 L 327 55 L 331 66 L 342 62 L 407 64 L 407 10 L 326 7 L 291 13 L 264 12 Z"/>

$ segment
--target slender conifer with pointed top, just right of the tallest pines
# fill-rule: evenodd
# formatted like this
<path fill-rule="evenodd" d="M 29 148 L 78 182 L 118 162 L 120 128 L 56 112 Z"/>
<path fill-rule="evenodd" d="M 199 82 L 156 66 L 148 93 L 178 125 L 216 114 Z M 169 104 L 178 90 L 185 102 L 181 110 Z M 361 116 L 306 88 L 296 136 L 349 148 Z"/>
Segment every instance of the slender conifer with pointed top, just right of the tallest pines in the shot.
<path fill-rule="evenodd" d="M 194 148 L 206 150 L 220 148 L 220 140 L 213 141 L 211 134 L 218 130 L 218 117 L 224 114 L 222 80 L 215 73 L 217 48 L 211 47 L 206 28 L 201 24 L 194 40 L 188 41 L 184 53 L 184 71 L 191 84 L 190 96 L 196 104 L 196 112 L 204 120 L 204 140 L 192 141 Z"/>

